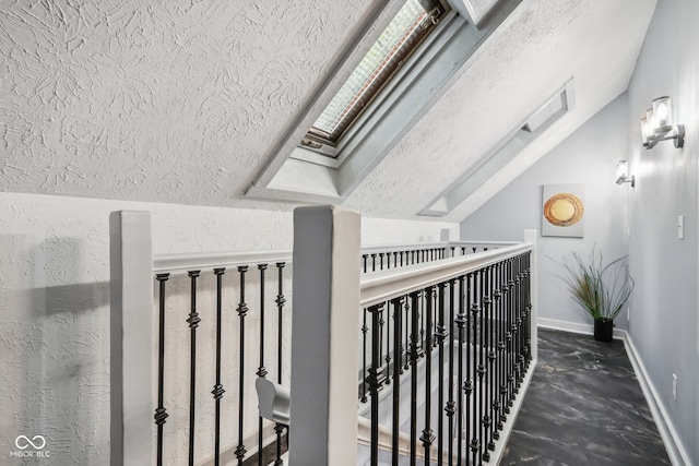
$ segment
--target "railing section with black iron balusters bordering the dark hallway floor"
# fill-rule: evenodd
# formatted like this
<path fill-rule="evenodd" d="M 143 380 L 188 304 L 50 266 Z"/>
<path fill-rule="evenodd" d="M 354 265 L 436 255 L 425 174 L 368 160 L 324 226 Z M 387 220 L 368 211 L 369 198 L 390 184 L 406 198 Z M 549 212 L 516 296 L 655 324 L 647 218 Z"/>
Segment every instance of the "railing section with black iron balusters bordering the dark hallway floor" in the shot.
<path fill-rule="evenodd" d="M 405 455 L 411 464 L 497 464 L 536 359 L 535 234 L 526 236 L 532 242 L 363 277 L 358 397 L 370 405 L 369 464 L 379 464 L 380 450 L 394 465 Z M 399 447 L 404 422 L 407 452 Z M 391 432 L 390 449 L 382 431 Z"/>

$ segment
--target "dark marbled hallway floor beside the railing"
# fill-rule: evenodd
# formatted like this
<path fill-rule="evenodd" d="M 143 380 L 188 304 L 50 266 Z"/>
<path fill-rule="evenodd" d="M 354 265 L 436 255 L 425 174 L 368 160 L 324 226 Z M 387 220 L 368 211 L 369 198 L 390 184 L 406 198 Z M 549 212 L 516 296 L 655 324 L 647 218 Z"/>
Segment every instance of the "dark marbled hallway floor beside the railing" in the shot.
<path fill-rule="evenodd" d="M 538 365 L 501 466 L 670 465 L 624 344 L 538 331 Z"/>

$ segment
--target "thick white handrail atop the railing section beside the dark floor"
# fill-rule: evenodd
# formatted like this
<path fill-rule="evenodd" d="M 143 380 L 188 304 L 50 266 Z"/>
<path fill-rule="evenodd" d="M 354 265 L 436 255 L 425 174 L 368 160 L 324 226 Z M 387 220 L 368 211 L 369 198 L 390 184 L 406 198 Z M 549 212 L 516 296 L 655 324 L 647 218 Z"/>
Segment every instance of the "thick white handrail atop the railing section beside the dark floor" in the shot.
<path fill-rule="evenodd" d="M 362 277 L 359 303 L 366 308 L 391 298 L 405 296 L 532 249 L 532 243 L 518 243 L 490 251 L 366 274 Z"/>

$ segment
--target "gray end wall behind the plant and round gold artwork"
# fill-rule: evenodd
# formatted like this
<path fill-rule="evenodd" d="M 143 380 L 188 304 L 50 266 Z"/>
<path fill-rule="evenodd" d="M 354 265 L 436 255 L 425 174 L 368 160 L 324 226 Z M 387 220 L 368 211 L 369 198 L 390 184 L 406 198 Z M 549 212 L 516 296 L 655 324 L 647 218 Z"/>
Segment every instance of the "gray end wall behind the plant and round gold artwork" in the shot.
<path fill-rule="evenodd" d="M 521 240 L 522 230 L 542 229 L 544 184 L 584 184 L 583 238 L 540 237 L 540 318 L 592 323 L 556 277 L 564 255 L 576 251 L 587 258 L 595 244 L 609 260 L 627 254 L 631 188 L 614 182 L 616 163 L 627 153 L 626 106 L 623 94 L 461 223 L 461 239 Z M 616 324 L 626 327 L 626 315 Z"/>

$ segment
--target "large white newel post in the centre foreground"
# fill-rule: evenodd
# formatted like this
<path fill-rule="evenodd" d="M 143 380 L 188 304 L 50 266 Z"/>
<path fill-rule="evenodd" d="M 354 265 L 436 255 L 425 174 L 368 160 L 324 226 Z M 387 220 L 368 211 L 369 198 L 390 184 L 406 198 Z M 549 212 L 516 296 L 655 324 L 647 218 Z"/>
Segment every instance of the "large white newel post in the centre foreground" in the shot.
<path fill-rule="evenodd" d="M 356 464 L 360 216 L 294 211 L 289 465 Z"/>

